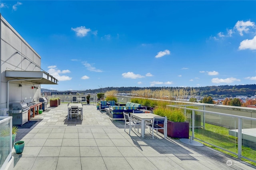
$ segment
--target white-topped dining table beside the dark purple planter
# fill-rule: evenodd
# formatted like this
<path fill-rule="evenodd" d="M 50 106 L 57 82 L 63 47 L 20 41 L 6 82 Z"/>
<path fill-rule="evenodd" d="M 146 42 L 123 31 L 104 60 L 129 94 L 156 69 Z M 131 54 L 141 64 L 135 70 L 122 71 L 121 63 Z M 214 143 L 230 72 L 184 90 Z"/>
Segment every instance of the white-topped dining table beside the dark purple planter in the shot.
<path fill-rule="evenodd" d="M 139 120 L 141 120 L 141 136 L 142 138 L 144 138 L 144 134 L 145 134 L 145 121 L 153 121 L 154 117 L 161 117 L 159 115 L 155 115 L 153 113 L 131 113 L 130 114 L 132 117 L 135 117 Z M 166 126 L 166 130 L 167 132 L 167 126 Z"/>

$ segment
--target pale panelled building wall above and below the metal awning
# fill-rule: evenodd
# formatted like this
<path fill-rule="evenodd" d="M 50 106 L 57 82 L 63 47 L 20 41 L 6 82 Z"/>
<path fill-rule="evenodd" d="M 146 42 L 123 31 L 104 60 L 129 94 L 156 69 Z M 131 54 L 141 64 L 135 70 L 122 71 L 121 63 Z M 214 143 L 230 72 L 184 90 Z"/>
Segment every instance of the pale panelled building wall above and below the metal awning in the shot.
<path fill-rule="evenodd" d="M 2 15 L 0 23 L 0 59 L 0 108 L 7 108 L 7 81 L 11 78 L 5 77 L 5 71 L 41 71 L 41 57 L 20 34 L 10 26 Z M 21 84 L 22 87 L 19 87 L 19 84 Z M 25 101 L 26 103 L 38 101 L 41 95 L 39 84 L 27 81 L 12 81 L 9 85 L 9 103 L 17 101 Z M 32 89 L 32 86 L 36 86 L 38 89 Z"/>

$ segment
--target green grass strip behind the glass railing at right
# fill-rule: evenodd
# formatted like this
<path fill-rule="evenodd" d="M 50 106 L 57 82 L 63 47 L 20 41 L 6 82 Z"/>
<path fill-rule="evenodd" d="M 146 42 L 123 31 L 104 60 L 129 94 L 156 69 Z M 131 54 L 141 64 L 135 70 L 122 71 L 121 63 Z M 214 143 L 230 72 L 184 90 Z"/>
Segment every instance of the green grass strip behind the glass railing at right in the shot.
<path fill-rule="evenodd" d="M 190 133 L 192 134 L 191 131 L 190 131 Z M 237 137 L 229 135 L 227 128 L 219 127 L 216 125 L 210 125 L 210 124 L 206 123 L 205 130 L 204 129 L 195 129 L 195 138 L 204 140 L 205 142 L 222 147 L 226 150 L 230 150 L 231 152 L 238 153 Z M 226 152 L 224 150 L 221 150 L 221 149 L 211 146 L 209 144 L 206 144 L 206 143 L 204 143 L 204 144 L 206 146 L 209 146 L 211 148 L 214 148 L 216 150 L 219 150 L 221 152 L 224 152 L 226 154 L 229 154 L 229 155 L 237 158 L 237 156 L 234 154 L 231 154 L 229 152 Z M 252 160 L 256 160 L 256 150 L 242 146 L 242 156 L 245 156 Z M 242 160 L 249 162 L 250 164 L 253 164 L 256 166 L 256 163 L 254 163 L 254 162 L 248 161 L 246 159 L 242 159 Z"/>

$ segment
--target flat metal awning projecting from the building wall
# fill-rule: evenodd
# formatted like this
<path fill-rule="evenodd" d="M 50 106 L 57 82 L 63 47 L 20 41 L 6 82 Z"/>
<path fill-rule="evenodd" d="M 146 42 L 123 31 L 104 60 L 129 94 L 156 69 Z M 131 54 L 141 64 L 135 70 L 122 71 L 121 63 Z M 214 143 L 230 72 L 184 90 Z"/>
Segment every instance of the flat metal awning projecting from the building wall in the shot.
<path fill-rule="evenodd" d="M 17 80 L 29 79 L 26 81 L 36 84 L 53 84 L 57 85 L 58 80 L 52 75 L 44 71 L 10 71 L 6 70 L 5 77 L 10 77 Z"/>

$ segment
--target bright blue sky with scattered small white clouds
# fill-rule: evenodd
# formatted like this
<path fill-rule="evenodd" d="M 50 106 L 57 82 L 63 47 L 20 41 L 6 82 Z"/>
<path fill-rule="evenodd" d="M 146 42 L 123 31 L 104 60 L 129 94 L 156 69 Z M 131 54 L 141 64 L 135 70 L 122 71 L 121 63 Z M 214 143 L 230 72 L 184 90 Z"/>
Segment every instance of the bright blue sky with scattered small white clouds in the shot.
<path fill-rule="evenodd" d="M 55 90 L 256 84 L 256 1 L 9 1 Z"/>

